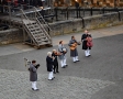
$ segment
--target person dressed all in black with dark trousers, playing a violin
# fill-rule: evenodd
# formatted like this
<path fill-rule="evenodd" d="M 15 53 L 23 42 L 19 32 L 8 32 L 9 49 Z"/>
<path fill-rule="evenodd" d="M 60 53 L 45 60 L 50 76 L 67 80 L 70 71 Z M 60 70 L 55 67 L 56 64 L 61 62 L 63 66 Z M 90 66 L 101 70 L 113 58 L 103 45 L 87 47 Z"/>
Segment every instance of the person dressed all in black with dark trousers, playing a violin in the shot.
<path fill-rule="evenodd" d="M 54 65 L 54 74 L 59 73 L 58 72 L 58 61 L 57 61 L 58 53 L 57 53 L 56 50 L 53 50 L 52 56 L 55 57 L 55 59 L 53 62 L 53 65 Z"/>

